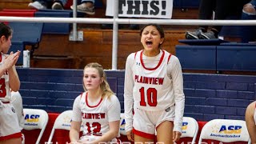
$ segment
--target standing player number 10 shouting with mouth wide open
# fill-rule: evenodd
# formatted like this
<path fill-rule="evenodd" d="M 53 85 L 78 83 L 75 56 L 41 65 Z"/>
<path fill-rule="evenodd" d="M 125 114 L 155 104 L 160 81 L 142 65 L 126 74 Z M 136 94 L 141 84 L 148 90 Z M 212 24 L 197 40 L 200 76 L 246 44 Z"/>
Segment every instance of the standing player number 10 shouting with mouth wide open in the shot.
<path fill-rule="evenodd" d="M 182 67 L 177 57 L 161 50 L 161 26 L 148 24 L 140 34 L 144 49 L 126 61 L 126 134 L 130 141 L 153 142 L 156 130 L 158 142 L 173 143 L 182 134 Z"/>

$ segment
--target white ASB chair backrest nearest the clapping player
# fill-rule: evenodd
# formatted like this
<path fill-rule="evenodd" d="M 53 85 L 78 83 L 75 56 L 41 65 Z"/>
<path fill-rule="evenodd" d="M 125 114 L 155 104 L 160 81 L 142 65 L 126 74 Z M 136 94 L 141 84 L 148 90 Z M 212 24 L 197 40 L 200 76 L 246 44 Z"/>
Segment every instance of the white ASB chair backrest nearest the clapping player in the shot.
<path fill-rule="evenodd" d="M 45 110 L 38 109 L 24 109 L 24 130 L 36 130 L 41 129 L 36 144 L 38 144 L 42 138 L 42 134 L 46 129 L 48 123 L 48 114 Z"/>

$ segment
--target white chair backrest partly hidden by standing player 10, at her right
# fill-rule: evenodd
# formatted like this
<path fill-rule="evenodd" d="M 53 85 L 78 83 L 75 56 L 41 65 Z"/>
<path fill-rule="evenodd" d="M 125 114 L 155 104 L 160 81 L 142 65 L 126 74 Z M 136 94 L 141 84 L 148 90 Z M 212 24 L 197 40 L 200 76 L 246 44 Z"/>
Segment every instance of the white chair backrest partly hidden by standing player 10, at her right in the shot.
<path fill-rule="evenodd" d="M 198 122 L 191 117 L 183 117 L 182 122 L 182 136 L 181 138 L 193 138 L 192 144 L 195 143 L 198 135 Z"/>

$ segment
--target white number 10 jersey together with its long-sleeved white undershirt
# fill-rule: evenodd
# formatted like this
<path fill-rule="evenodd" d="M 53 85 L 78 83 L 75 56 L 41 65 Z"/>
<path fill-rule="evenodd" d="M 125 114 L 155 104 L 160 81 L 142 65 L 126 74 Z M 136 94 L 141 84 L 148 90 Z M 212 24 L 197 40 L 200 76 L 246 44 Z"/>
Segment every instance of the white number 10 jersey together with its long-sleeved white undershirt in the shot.
<path fill-rule="evenodd" d="M 160 111 L 175 105 L 174 130 L 181 132 L 185 95 L 178 58 L 166 50 L 160 50 L 155 57 L 146 57 L 143 50 L 130 54 L 126 60 L 124 99 L 126 131 L 133 129 L 134 107 Z"/>

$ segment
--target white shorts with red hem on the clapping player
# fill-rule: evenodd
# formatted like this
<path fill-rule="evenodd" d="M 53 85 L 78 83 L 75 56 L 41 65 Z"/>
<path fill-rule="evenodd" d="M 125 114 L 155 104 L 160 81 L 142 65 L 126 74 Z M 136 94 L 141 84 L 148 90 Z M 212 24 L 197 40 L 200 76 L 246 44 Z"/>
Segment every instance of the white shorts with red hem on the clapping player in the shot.
<path fill-rule="evenodd" d="M 0 101 L 0 141 L 11 138 L 22 138 L 18 117 L 12 104 Z"/>

